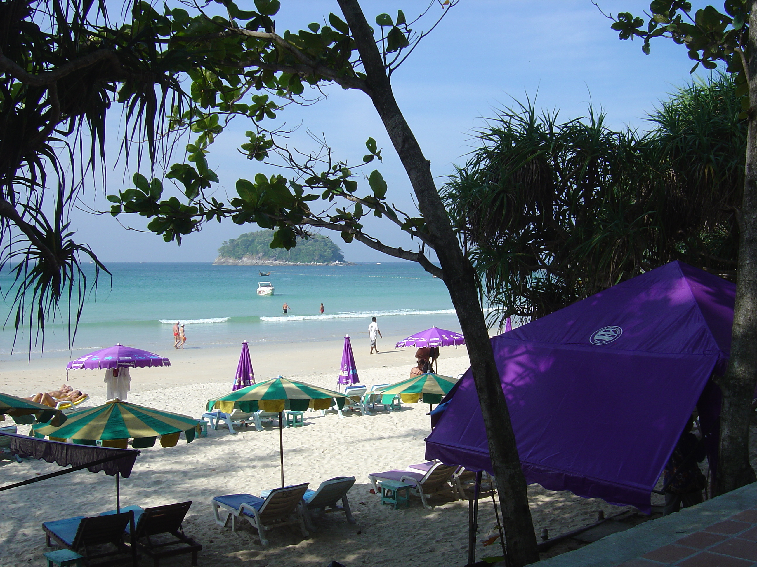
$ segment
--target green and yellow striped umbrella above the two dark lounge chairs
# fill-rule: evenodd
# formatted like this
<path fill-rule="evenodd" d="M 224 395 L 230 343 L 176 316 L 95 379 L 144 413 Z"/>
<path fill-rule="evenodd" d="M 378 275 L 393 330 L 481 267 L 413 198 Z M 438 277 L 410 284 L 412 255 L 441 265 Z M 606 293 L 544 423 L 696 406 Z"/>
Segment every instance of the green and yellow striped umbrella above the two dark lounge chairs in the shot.
<path fill-rule="evenodd" d="M 96 440 L 101 439 L 103 447 L 126 448 L 126 442 L 133 438 L 132 446 L 142 449 L 152 447 L 158 435 L 161 446 L 173 447 L 182 431 L 187 442 L 191 443 L 197 427 L 198 420 L 192 417 L 113 400 L 91 410 L 70 414 L 63 426 L 37 424 L 33 429 L 39 435 L 48 435 L 59 441 L 73 439 L 73 442 L 84 445 L 94 445 Z"/>

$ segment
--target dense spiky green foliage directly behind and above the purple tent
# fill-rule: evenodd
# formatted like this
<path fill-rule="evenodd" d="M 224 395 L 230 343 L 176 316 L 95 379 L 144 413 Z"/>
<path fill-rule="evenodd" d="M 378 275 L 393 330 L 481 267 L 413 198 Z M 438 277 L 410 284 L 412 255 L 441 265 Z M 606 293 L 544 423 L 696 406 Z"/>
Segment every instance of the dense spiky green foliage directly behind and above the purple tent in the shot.
<path fill-rule="evenodd" d="M 444 188 L 500 322 L 538 318 L 681 259 L 733 277 L 746 125 L 733 79 L 681 89 L 640 136 L 604 116 L 500 113 Z"/>

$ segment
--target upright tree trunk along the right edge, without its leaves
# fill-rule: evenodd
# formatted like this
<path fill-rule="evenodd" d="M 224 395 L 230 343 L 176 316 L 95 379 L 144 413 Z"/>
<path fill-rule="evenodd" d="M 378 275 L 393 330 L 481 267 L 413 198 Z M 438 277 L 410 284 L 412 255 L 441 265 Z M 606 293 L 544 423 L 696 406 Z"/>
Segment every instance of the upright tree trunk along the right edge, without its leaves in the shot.
<path fill-rule="evenodd" d="M 718 380 L 723 394 L 720 414 L 720 455 L 716 494 L 750 482 L 749 418 L 757 383 L 757 0 L 749 14 L 749 133 L 746 138 L 746 182 L 739 215 L 739 265 L 731 339 L 731 362 Z"/>

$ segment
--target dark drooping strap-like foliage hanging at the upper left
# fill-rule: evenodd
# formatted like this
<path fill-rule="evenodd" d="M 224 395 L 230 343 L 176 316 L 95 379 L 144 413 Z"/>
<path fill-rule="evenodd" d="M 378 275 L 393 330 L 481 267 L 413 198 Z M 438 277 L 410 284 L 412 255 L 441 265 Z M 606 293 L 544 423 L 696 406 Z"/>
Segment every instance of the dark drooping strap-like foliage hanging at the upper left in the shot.
<path fill-rule="evenodd" d="M 0 269 L 15 275 L 3 292 L 12 294 L 16 330 L 30 328 L 30 345 L 61 300 L 75 329 L 88 290 L 81 256 L 95 262 L 95 279 L 104 269 L 67 218 L 103 163 L 107 110 L 125 105 L 127 135 L 147 139 L 153 163 L 160 109 L 169 96 L 180 103 L 174 61 L 161 53 L 164 20 L 141 3 L 116 27 L 104 2 L 0 2 Z"/>

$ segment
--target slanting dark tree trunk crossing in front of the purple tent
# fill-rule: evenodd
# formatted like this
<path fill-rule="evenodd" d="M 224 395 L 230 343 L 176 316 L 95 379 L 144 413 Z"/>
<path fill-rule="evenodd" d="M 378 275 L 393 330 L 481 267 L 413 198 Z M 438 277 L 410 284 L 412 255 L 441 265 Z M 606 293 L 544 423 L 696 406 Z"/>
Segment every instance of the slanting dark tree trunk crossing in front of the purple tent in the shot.
<path fill-rule="evenodd" d="M 466 337 L 473 380 L 486 427 L 489 454 L 500 492 L 510 565 L 520 567 L 536 562 L 539 553 L 531 510 L 528 508 L 525 476 L 518 457 L 500 375 L 494 362 L 488 327 L 478 303 L 475 271 L 460 249 L 444 203 L 434 184 L 429 162 L 423 156 L 418 141 L 394 100 L 381 54 L 360 4 L 357 0 L 338 2 L 363 60 L 368 94 L 413 185 L 418 207 L 425 218 L 431 241 L 444 270 L 444 283 Z"/>

